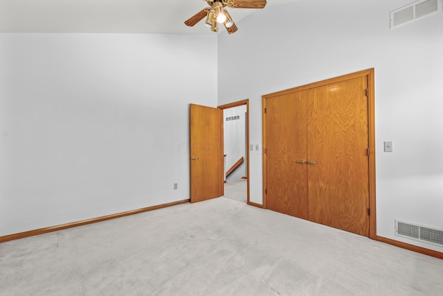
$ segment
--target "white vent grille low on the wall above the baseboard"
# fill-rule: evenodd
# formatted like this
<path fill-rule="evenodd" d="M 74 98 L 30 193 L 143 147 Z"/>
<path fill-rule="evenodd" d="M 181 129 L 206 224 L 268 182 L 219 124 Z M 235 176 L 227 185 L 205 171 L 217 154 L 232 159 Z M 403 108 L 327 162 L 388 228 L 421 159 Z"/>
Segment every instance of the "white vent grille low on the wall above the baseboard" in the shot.
<path fill-rule="evenodd" d="M 395 235 L 443 245 L 443 229 L 395 220 Z"/>

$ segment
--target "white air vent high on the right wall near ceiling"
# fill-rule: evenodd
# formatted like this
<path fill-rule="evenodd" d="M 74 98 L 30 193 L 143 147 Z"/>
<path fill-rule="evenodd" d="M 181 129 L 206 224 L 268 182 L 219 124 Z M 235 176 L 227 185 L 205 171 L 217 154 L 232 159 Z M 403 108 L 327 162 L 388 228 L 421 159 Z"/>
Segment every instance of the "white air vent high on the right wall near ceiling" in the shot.
<path fill-rule="evenodd" d="M 390 28 L 442 11 L 442 0 L 420 0 L 390 12 Z"/>

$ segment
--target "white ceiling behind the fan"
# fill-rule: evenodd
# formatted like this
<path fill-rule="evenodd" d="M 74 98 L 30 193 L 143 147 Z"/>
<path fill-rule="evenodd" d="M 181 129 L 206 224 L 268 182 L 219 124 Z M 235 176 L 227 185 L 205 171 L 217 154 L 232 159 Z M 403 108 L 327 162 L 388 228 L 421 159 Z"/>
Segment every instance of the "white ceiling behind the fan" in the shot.
<path fill-rule="evenodd" d="M 298 0 L 267 0 L 267 7 Z M 0 0 L 0 33 L 211 33 L 184 21 L 203 0 Z M 239 20 L 255 9 L 229 9 Z"/>

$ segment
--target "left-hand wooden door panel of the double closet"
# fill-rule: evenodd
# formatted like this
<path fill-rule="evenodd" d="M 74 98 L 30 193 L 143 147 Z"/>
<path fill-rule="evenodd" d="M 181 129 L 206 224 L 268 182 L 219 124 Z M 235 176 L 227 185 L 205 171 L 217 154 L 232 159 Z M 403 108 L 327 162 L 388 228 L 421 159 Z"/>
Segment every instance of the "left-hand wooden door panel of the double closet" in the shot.
<path fill-rule="evenodd" d="M 266 208 L 307 219 L 307 92 L 266 100 Z"/>

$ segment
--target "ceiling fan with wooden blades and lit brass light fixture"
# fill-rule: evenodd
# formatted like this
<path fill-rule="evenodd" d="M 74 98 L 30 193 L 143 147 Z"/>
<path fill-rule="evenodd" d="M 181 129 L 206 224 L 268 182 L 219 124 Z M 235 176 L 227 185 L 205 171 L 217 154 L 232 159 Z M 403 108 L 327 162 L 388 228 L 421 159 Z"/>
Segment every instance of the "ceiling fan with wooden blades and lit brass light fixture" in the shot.
<path fill-rule="evenodd" d="M 187 26 L 194 26 L 201 19 L 206 17 L 205 24 L 210 28 L 210 31 L 218 32 L 219 24 L 224 24 L 226 31 L 229 34 L 235 33 L 238 30 L 235 26 L 233 19 L 230 17 L 229 12 L 225 9 L 228 8 L 264 8 L 266 6 L 266 0 L 204 0 L 208 3 L 209 7 L 204 8 L 200 12 L 190 17 L 185 21 Z"/>

